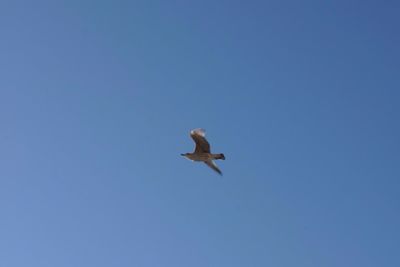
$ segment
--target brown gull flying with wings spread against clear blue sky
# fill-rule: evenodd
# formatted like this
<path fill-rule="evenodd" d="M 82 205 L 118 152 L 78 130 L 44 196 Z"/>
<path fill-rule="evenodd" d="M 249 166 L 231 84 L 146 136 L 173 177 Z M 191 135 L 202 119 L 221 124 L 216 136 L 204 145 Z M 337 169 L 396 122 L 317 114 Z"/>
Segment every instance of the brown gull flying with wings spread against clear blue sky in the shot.
<path fill-rule="evenodd" d="M 206 131 L 201 128 L 193 129 L 190 131 L 190 137 L 196 143 L 196 147 L 193 153 L 181 154 L 191 161 L 202 161 L 208 167 L 216 171 L 219 175 L 222 175 L 221 170 L 218 168 L 217 164 L 213 160 L 222 159 L 225 160 L 225 155 L 223 153 L 213 154 L 211 153 L 210 144 L 205 138 Z"/>

